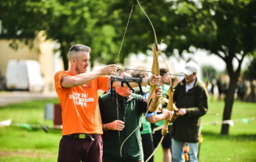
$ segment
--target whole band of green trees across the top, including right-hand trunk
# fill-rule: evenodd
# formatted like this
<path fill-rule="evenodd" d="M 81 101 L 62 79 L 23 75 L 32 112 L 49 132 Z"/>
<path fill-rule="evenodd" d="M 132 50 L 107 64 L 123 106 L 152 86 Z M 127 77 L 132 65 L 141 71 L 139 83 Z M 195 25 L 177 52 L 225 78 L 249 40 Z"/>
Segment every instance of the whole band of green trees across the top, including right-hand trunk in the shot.
<path fill-rule="evenodd" d="M 92 48 L 92 66 L 96 60 L 115 63 L 133 4 L 118 62 L 124 62 L 130 53 L 147 53 L 155 40 L 151 24 L 136 0 L 13 0 L 0 4 L 2 33 L 20 40 L 44 30 L 48 39 L 59 43 L 57 50 L 65 69 L 68 49 L 78 43 Z M 156 29 L 157 40 L 167 45 L 163 51 L 166 56 L 193 53 L 193 46 L 206 49 L 226 63 L 230 83 L 223 119 L 229 120 L 241 62 L 256 48 L 256 0 L 141 0 L 140 4 Z M 221 134 L 228 134 L 228 125 L 222 126 Z"/>

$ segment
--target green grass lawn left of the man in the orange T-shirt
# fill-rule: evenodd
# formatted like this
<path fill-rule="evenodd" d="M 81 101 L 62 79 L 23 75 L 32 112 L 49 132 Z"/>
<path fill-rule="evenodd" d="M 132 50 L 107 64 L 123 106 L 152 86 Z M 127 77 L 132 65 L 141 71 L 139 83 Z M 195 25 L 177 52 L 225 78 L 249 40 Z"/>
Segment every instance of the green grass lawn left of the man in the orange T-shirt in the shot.
<path fill-rule="evenodd" d="M 45 103 L 59 103 L 58 99 L 36 100 L 0 107 L 0 121 L 53 125 L 45 120 Z M 28 130 L 18 126 L 0 127 L 0 161 L 57 161 L 58 143 L 62 130 L 41 128 Z"/>

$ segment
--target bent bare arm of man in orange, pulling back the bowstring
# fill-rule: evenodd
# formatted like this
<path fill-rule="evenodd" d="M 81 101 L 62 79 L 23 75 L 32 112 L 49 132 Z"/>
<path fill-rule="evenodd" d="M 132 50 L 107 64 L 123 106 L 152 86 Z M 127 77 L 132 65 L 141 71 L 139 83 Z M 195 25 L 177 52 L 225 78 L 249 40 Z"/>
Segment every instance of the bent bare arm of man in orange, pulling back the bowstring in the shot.
<path fill-rule="evenodd" d="M 109 65 L 100 68 L 100 70 L 92 71 L 89 73 L 83 73 L 80 75 L 70 76 L 62 78 L 62 87 L 77 87 L 92 81 L 102 75 L 115 75 L 117 73 L 116 65 Z"/>

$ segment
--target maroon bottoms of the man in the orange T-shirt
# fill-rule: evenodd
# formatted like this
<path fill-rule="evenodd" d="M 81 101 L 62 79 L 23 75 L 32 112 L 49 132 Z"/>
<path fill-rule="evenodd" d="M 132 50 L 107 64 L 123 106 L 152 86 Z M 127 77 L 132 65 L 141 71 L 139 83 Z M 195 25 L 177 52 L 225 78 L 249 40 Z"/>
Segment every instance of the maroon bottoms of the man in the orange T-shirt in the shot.
<path fill-rule="evenodd" d="M 101 162 L 102 139 L 98 135 L 90 138 L 77 139 L 75 137 L 62 136 L 58 149 L 58 162 Z"/>

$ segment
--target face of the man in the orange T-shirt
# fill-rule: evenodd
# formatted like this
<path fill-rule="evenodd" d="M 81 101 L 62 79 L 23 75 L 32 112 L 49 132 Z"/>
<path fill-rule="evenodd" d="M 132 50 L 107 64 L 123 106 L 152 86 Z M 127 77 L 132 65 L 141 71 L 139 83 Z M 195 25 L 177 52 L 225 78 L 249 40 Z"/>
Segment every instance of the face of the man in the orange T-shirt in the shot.
<path fill-rule="evenodd" d="M 85 73 L 89 66 L 90 54 L 88 52 L 79 52 L 79 58 L 76 61 L 75 70 L 78 74 Z"/>

